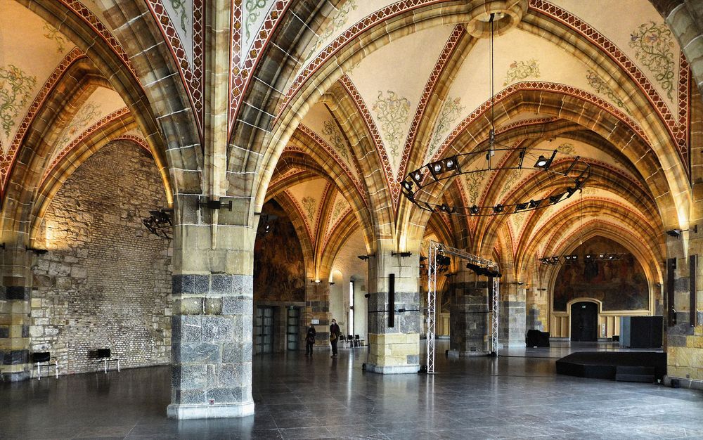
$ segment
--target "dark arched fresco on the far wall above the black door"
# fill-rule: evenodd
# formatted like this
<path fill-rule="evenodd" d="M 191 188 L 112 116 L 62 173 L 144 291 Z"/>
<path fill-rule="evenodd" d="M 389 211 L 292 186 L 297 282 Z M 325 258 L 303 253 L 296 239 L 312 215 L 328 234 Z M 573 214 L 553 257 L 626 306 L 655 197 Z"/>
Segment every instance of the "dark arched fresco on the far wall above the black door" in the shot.
<path fill-rule="evenodd" d="M 614 261 L 587 261 L 586 254 L 624 254 Z M 602 302 L 603 311 L 647 310 L 649 292 L 639 261 L 613 240 L 594 237 L 576 248 L 577 263 L 562 264 L 554 285 L 554 311 L 567 311 L 567 303 L 586 297 Z"/>

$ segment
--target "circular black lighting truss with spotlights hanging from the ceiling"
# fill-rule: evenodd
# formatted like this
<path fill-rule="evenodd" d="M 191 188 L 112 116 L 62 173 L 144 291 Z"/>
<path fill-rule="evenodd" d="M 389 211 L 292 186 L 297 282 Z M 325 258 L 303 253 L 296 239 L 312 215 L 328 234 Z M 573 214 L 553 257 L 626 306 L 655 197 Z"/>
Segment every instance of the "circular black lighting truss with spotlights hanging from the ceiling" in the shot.
<path fill-rule="evenodd" d="M 496 153 L 516 155 L 517 160 L 513 166 L 492 167 L 491 157 Z M 534 160 L 534 165 L 524 166 Z M 432 193 L 428 188 L 434 183 L 453 179 L 461 174 L 471 174 L 486 171 L 508 172 L 510 170 L 534 170 L 544 173 L 552 178 L 564 181 L 563 188 L 555 191 L 546 198 L 530 198 L 522 202 L 494 206 L 450 206 L 446 203 L 433 203 L 438 194 Z M 430 162 L 408 173 L 401 189 L 403 195 L 420 209 L 439 212 L 441 214 L 457 214 L 466 216 L 491 216 L 514 214 L 516 212 L 532 211 L 570 198 L 576 191 L 583 188 L 584 183 L 591 177 L 591 165 L 580 156 L 565 155 L 557 150 L 543 150 L 539 148 L 489 148 L 488 150 L 461 153 L 446 157 L 436 162 Z"/>

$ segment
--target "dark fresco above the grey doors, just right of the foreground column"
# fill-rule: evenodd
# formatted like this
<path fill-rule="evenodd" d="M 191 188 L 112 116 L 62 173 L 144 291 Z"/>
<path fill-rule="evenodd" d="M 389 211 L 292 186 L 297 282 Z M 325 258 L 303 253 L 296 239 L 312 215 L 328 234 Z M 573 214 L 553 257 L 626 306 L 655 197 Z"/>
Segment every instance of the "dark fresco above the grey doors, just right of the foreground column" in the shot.
<path fill-rule="evenodd" d="M 283 208 L 266 202 L 262 212 L 278 216 L 268 233 L 259 225 L 254 243 L 254 301 L 305 301 L 305 266 L 295 228 Z"/>

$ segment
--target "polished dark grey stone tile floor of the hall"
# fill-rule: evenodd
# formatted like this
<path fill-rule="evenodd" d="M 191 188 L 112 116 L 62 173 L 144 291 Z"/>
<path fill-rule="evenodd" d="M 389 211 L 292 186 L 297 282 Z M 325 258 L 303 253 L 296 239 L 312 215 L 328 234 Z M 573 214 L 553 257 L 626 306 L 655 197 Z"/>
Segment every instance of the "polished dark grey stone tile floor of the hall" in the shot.
<path fill-rule="evenodd" d="M 238 420 L 168 420 L 168 367 L 0 384 L 0 439 L 703 439 L 703 392 L 555 375 L 576 349 L 439 356 L 430 376 L 363 373 L 366 348 L 255 356 Z"/>

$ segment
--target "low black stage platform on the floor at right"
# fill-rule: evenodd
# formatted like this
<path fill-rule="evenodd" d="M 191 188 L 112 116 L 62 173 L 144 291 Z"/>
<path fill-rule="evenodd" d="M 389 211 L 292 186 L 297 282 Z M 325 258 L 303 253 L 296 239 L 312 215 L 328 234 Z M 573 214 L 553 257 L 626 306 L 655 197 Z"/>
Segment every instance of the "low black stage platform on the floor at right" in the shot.
<path fill-rule="evenodd" d="M 579 351 L 558 360 L 557 373 L 623 382 L 654 382 L 666 374 L 666 353 Z"/>

